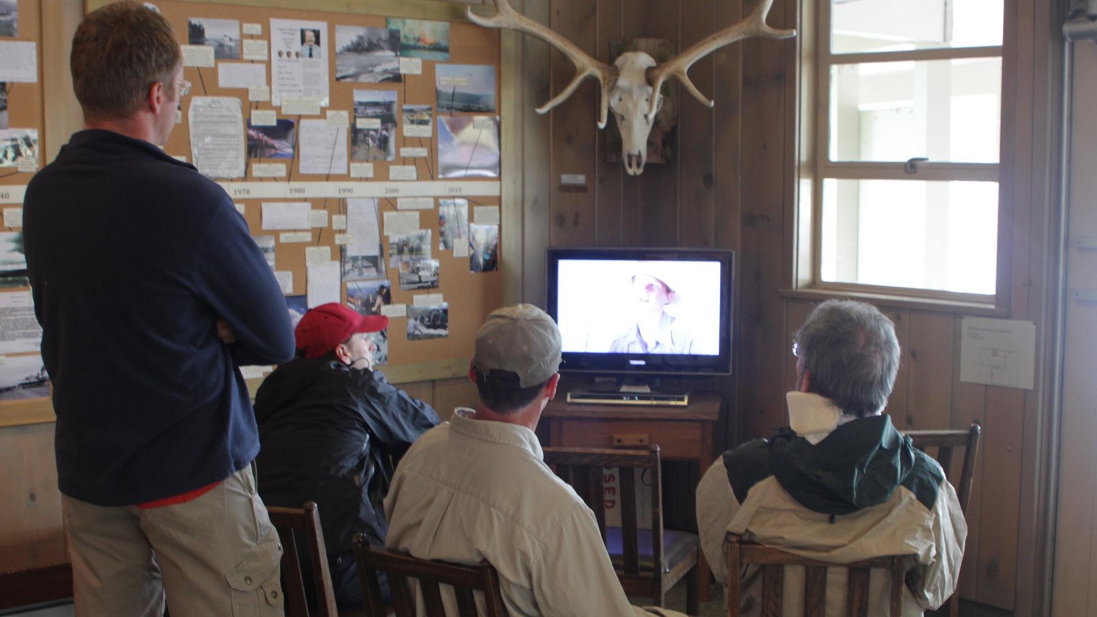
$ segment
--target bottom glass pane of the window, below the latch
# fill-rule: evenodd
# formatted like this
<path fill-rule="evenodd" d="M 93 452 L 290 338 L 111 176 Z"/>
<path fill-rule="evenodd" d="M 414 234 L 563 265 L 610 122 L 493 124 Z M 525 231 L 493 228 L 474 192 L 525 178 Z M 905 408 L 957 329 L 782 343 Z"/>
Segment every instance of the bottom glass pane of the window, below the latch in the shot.
<path fill-rule="evenodd" d="M 997 182 L 823 181 L 826 282 L 994 294 Z"/>

